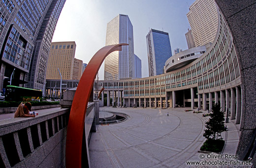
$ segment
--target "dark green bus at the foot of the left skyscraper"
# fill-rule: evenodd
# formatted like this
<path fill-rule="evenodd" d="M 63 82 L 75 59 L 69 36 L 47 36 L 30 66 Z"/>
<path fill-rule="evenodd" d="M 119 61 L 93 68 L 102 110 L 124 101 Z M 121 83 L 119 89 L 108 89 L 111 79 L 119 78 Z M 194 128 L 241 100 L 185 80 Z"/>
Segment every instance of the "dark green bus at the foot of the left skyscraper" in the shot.
<path fill-rule="evenodd" d="M 40 101 L 42 100 L 42 91 L 22 88 L 18 86 L 6 86 L 5 101 Z"/>

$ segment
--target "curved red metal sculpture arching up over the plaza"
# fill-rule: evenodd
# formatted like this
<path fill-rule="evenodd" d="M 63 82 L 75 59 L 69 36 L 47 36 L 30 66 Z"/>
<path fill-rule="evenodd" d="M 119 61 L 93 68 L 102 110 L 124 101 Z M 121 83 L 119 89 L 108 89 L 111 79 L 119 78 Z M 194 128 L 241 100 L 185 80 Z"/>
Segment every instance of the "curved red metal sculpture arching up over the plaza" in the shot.
<path fill-rule="evenodd" d="M 127 45 L 128 44 L 117 44 L 99 49 L 88 63 L 79 81 L 67 125 L 65 151 L 66 168 L 81 168 L 85 116 L 96 74 L 108 54 L 113 51 L 121 51 L 122 46 Z"/>

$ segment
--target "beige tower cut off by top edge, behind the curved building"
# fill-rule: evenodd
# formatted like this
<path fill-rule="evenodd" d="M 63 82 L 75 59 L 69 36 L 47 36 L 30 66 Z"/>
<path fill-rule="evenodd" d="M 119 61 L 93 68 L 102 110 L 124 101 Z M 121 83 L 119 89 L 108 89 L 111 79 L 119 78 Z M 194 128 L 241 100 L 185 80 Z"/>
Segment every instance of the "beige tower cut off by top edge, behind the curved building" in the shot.
<path fill-rule="evenodd" d="M 195 47 L 212 43 L 218 28 L 218 14 L 214 0 L 195 0 L 187 14 Z"/>

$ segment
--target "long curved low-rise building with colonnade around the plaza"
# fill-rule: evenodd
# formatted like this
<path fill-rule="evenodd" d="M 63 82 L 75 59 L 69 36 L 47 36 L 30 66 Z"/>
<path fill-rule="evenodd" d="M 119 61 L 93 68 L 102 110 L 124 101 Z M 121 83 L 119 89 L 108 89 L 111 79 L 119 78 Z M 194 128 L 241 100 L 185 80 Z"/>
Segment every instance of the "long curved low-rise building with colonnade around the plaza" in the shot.
<path fill-rule="evenodd" d="M 231 120 L 240 123 L 243 109 L 241 70 L 231 32 L 219 8 L 217 10 L 218 30 L 215 40 L 206 51 L 200 48 L 200 53 L 195 52 L 194 55 L 200 56 L 194 61 L 179 59 L 177 61 L 180 63 L 188 61 L 187 65 L 157 76 L 98 81 L 97 90 L 104 87 L 101 94 L 107 94 L 107 105 L 110 106 L 110 96 L 118 106 L 122 102 L 122 105 L 129 107 L 191 107 L 211 110 L 213 103 L 220 103 L 222 111 L 231 116 Z M 168 60 L 170 64 L 172 59 Z M 168 61 L 165 64 L 166 70 L 171 68 Z M 101 101 L 103 104 L 103 99 Z"/>

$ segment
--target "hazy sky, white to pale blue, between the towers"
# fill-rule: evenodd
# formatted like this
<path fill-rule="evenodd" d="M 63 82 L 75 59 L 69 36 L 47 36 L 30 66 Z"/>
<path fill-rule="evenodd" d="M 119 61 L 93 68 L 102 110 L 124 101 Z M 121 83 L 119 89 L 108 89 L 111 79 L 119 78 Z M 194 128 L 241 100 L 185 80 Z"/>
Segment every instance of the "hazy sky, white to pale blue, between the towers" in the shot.
<path fill-rule="evenodd" d="M 75 58 L 89 63 L 105 46 L 107 23 L 119 14 L 133 25 L 134 53 L 141 59 L 142 77 L 148 77 L 146 35 L 151 28 L 169 33 L 175 48 L 188 49 L 185 33 L 189 6 L 195 0 L 66 0 L 52 42 L 75 41 Z M 99 70 L 104 79 L 104 62 Z"/>

